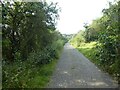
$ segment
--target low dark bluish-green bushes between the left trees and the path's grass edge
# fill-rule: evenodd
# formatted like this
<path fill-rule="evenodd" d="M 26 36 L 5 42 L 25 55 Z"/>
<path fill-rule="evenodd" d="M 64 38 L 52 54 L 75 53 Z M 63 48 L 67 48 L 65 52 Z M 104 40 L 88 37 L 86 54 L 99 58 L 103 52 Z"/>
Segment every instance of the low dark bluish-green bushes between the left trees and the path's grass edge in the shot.
<path fill-rule="evenodd" d="M 43 65 L 51 62 L 53 59 L 59 58 L 59 53 L 63 48 L 64 41 L 58 40 L 52 46 L 47 46 L 42 51 L 38 51 L 37 53 L 31 53 L 28 60 L 31 64 L 34 65 Z"/>

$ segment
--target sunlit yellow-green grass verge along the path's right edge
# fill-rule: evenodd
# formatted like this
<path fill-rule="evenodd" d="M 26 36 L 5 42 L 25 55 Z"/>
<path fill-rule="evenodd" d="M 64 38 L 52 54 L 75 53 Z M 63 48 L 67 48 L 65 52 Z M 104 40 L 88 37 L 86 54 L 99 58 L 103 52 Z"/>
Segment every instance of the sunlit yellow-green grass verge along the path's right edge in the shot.
<path fill-rule="evenodd" d="M 90 61 L 97 65 L 101 70 L 108 72 L 114 79 L 119 82 L 119 77 L 116 76 L 116 71 L 118 70 L 117 63 L 109 66 L 103 65 L 100 62 L 98 49 L 96 48 L 97 42 L 81 43 L 79 46 L 73 46 L 78 49 L 83 55 L 85 55 Z"/>

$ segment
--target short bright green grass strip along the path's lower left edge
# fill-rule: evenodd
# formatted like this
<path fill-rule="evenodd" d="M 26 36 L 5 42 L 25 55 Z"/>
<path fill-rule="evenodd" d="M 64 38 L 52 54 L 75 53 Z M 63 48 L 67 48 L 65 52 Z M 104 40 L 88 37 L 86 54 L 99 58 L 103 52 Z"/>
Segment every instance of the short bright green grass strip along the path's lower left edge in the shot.
<path fill-rule="evenodd" d="M 33 70 L 34 78 L 28 83 L 29 88 L 45 88 L 55 69 L 57 60 L 52 60 L 49 64 Z"/>

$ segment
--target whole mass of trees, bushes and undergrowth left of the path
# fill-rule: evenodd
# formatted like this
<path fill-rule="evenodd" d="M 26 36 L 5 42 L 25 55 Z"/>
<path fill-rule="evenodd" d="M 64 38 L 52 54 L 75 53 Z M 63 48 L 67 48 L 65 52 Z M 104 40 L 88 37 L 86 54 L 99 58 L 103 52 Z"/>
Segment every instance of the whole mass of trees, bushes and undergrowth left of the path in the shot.
<path fill-rule="evenodd" d="M 30 87 L 41 68 L 58 59 L 65 43 L 55 31 L 58 12 L 54 3 L 2 1 L 3 88 Z"/>

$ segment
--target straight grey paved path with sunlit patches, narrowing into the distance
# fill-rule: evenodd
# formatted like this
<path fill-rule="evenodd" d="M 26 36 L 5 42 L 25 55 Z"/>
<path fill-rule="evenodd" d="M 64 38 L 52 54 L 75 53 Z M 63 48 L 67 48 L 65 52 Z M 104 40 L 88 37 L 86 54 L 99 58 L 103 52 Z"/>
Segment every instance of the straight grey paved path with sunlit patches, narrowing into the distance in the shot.
<path fill-rule="evenodd" d="M 98 69 L 69 43 L 56 66 L 48 84 L 49 88 L 115 88 L 117 83 Z"/>

